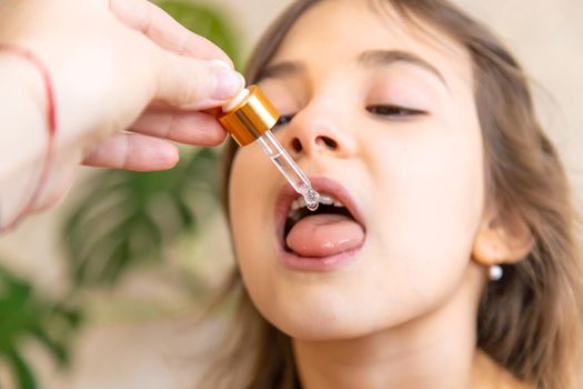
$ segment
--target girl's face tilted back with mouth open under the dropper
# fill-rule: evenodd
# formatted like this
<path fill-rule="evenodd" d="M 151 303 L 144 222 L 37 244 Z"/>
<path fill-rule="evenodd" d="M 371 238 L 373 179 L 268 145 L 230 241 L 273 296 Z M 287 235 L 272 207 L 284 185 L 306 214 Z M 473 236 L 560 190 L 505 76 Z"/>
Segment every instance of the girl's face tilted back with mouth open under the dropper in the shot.
<path fill-rule="evenodd" d="M 469 56 L 368 4 L 313 7 L 260 82 L 282 114 L 294 114 L 277 129 L 280 141 L 321 191 L 341 196 L 318 178 L 345 189 L 360 223 L 306 218 L 289 252 L 284 179 L 259 144 L 239 150 L 232 168 L 244 283 L 262 315 L 294 338 L 359 337 L 450 301 L 478 305 L 482 273 L 471 257 L 484 161 Z M 383 108 L 392 106 L 404 109 Z"/>

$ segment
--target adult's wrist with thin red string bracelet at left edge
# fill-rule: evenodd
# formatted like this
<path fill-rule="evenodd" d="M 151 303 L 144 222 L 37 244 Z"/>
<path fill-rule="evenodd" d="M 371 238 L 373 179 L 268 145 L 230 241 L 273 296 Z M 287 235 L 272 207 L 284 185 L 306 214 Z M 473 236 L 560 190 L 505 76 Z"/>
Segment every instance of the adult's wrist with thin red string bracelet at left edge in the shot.
<path fill-rule="evenodd" d="M 3 154 L 8 162 L 4 164 L 7 170 L 0 170 L 0 179 L 3 183 L 2 201 L 0 202 L 2 207 L 0 209 L 2 217 L 0 230 L 2 230 L 16 227 L 24 215 L 30 213 L 37 207 L 53 162 L 57 116 L 52 80 L 42 60 L 24 47 L 4 42 L 0 42 L 0 56 L 8 56 L 8 59 L 4 58 L 2 60 L 0 67 L 0 74 L 6 81 L 6 88 L 0 92 L 0 118 L 9 127 L 8 130 L 0 133 L 0 140 L 2 140 L 0 144 L 6 149 Z M 13 58 L 11 59 L 10 57 Z M 17 66 L 17 62 L 14 62 L 17 59 L 20 59 L 23 63 Z M 37 103 L 33 98 L 34 93 L 27 93 L 29 88 L 26 84 L 29 80 L 24 77 L 23 71 L 26 71 L 26 67 L 22 68 L 23 64 L 34 69 L 38 77 L 40 77 L 42 94 L 44 96 L 44 109 L 33 110 Z M 44 118 L 43 137 L 38 136 L 38 129 L 42 127 L 38 124 L 39 117 L 41 119 Z M 44 139 L 47 144 L 46 151 L 40 153 L 37 150 L 39 138 Z M 20 149 L 11 149 L 11 147 L 18 146 L 20 146 Z M 18 150 L 18 153 L 16 153 L 16 150 Z M 39 158 L 42 159 L 41 163 L 33 163 Z M 26 188 L 30 186 L 28 183 L 30 174 L 27 173 L 32 173 L 31 170 L 38 170 L 34 168 L 39 164 L 41 169 L 37 178 L 38 183 L 33 186 L 31 194 L 27 196 L 24 193 L 27 191 Z M 30 169 L 28 169 L 29 166 L 31 167 Z M 8 179 L 11 180 L 9 181 Z M 23 197 L 28 198 L 28 200 L 20 205 Z"/>

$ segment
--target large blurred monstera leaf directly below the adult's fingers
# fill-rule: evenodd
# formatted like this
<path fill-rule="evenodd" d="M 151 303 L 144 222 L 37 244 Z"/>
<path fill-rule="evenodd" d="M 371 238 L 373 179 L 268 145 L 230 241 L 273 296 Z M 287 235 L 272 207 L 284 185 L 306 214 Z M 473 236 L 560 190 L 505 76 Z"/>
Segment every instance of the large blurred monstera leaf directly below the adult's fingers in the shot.
<path fill-rule="evenodd" d="M 195 230 L 197 203 L 217 198 L 217 156 L 198 149 L 182 159 L 164 172 L 91 178 L 62 235 L 77 287 L 112 285 L 132 265 L 160 261 L 164 247 Z"/>

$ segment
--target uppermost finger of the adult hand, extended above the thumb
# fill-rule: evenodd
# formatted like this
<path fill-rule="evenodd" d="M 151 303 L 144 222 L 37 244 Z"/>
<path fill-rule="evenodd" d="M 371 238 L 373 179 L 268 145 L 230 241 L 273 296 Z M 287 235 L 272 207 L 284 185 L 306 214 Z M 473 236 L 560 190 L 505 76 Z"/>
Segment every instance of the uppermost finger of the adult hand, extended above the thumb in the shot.
<path fill-rule="evenodd" d="M 203 60 L 218 59 L 233 68 L 233 62 L 224 51 L 182 27 L 150 1 L 110 0 L 110 9 L 124 24 L 144 33 L 167 50 Z"/>

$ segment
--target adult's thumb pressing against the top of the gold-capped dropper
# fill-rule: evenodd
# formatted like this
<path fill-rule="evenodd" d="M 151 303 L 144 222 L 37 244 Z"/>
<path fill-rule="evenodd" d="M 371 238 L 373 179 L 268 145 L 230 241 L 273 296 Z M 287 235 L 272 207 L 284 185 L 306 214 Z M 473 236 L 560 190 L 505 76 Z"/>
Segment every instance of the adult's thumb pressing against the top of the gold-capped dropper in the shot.
<path fill-rule="evenodd" d="M 183 109 L 207 109 L 232 99 L 243 76 L 220 60 L 205 61 L 162 50 L 154 99 Z"/>

